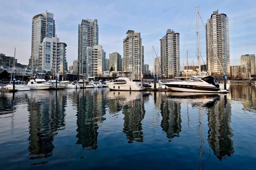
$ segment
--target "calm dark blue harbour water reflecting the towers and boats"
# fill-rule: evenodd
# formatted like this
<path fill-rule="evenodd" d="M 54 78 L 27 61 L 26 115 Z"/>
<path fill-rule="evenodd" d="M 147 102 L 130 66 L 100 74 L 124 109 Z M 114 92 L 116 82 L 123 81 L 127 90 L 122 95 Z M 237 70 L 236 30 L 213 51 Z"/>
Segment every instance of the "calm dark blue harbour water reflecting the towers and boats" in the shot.
<path fill-rule="evenodd" d="M 256 89 L 0 93 L 0 169 L 253 169 Z"/>

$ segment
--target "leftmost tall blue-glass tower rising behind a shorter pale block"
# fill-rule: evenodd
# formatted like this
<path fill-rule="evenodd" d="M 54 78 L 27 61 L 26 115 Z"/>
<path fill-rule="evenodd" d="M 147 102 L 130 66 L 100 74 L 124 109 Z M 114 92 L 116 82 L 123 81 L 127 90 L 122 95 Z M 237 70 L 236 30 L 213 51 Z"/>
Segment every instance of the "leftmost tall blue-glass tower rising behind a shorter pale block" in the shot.
<path fill-rule="evenodd" d="M 45 13 L 35 15 L 32 19 L 32 43 L 29 67 L 32 67 L 32 63 L 33 68 L 42 68 L 42 65 L 44 65 L 40 59 L 41 51 L 39 51 L 39 46 L 45 37 L 55 37 L 55 20 L 53 17 L 53 14 L 46 10 Z"/>

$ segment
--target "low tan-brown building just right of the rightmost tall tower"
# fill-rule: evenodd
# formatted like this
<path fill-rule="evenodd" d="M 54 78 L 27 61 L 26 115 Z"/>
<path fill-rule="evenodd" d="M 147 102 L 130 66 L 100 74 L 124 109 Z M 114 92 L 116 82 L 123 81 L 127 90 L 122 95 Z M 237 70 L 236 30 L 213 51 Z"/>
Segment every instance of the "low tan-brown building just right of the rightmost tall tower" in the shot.
<path fill-rule="evenodd" d="M 231 79 L 250 79 L 251 74 L 247 69 L 247 65 L 230 66 Z"/>

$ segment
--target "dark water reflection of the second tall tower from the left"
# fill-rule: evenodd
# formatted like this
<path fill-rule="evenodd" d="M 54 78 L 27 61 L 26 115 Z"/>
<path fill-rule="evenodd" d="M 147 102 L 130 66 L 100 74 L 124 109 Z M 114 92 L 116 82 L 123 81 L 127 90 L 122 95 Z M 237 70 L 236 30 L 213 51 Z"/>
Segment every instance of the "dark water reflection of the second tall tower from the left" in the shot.
<path fill-rule="evenodd" d="M 77 135 L 76 144 L 83 149 L 96 150 L 100 123 L 105 120 L 105 102 L 101 88 L 81 89 L 77 95 Z"/>

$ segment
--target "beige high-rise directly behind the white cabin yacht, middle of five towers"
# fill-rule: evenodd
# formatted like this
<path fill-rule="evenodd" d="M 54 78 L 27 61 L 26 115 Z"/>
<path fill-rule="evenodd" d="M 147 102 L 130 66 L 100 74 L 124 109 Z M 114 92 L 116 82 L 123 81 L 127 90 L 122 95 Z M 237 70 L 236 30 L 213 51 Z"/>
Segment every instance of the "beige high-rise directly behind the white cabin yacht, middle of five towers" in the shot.
<path fill-rule="evenodd" d="M 131 71 L 134 74 L 142 73 L 143 46 L 139 32 L 128 30 L 124 38 L 124 71 Z"/>

